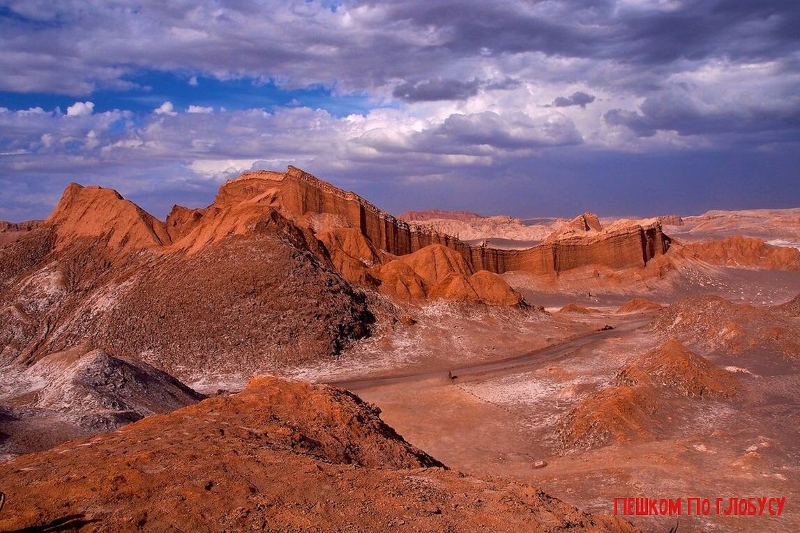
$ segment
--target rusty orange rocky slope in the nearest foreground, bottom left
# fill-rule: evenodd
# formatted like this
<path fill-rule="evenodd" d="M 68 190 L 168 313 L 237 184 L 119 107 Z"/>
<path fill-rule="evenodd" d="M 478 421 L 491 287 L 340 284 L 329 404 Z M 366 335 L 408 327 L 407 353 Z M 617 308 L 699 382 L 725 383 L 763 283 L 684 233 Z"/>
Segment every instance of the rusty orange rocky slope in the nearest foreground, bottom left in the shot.
<path fill-rule="evenodd" d="M 0 479 L 4 531 L 635 531 L 447 471 L 357 396 L 273 378 L 2 463 Z"/>

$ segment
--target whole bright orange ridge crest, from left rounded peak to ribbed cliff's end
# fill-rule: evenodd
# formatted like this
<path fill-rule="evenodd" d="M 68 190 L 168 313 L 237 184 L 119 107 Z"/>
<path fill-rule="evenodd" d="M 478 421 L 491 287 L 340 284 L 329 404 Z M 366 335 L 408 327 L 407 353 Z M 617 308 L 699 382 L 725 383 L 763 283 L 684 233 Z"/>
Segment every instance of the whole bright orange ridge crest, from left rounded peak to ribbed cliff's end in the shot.
<path fill-rule="evenodd" d="M 208 208 L 176 207 L 166 224 L 110 189 L 70 185 L 48 222 L 58 228 L 59 242 L 80 236 L 106 236 L 111 249 L 130 251 L 172 244 L 194 252 L 230 234 L 249 232 L 259 221 L 270 218 L 272 211 L 312 233 L 332 228 L 356 229 L 376 252 L 391 256 L 406 256 L 426 246 L 442 245 L 459 253 L 474 272 L 562 272 L 595 264 L 611 268 L 644 266 L 670 245 L 658 221 L 614 225 L 604 230 L 596 216 L 586 213 L 531 249 L 470 246 L 442 233 L 411 227 L 362 197 L 294 167 L 286 173 L 244 173 L 222 185 Z M 110 232 L 110 228 L 114 231 Z"/>

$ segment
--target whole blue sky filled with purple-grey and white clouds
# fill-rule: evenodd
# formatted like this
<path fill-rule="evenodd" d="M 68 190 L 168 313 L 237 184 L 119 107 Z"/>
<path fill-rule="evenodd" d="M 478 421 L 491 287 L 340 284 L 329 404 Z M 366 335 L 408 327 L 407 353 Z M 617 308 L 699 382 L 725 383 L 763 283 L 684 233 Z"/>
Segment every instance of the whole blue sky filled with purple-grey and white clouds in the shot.
<path fill-rule="evenodd" d="M 800 206 L 797 0 L 0 0 L 0 220 L 298 166 L 390 213 Z"/>

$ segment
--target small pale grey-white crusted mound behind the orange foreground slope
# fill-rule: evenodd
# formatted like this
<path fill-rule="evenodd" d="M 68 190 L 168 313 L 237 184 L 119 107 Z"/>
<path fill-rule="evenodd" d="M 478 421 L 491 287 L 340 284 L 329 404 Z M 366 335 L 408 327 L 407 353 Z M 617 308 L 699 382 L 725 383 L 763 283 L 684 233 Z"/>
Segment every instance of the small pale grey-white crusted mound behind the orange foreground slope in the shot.
<path fill-rule="evenodd" d="M 3 372 L 0 458 L 44 450 L 205 398 L 149 364 L 85 345 L 51 353 L 22 372 L 9 367 Z"/>

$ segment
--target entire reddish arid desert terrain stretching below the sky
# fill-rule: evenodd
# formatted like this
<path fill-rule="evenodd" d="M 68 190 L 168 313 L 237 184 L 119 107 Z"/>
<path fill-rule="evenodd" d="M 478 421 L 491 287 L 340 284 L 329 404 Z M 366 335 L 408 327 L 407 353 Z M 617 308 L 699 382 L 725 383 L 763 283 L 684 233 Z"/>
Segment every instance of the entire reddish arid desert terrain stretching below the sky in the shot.
<path fill-rule="evenodd" d="M 159 221 L 73 184 L 0 225 L 0 323 L 2 531 L 800 531 L 800 209 L 395 218 L 290 167 Z"/>

